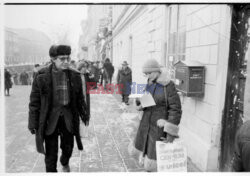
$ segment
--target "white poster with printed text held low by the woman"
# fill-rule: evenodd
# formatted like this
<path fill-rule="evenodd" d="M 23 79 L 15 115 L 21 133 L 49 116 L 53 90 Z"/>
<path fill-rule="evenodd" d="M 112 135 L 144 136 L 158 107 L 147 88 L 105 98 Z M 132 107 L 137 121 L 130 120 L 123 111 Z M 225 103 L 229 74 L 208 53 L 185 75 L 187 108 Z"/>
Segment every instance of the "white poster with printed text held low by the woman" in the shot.
<path fill-rule="evenodd" d="M 187 172 L 187 149 L 181 142 L 156 141 L 158 172 Z"/>

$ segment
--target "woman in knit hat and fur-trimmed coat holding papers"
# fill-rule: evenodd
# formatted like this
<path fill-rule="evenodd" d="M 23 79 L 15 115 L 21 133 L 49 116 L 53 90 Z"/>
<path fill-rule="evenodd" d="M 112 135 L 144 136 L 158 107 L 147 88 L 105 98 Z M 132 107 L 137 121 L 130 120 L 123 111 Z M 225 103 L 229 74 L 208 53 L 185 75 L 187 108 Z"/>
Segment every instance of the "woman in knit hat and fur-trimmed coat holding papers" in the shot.
<path fill-rule="evenodd" d="M 156 171 L 156 141 L 173 142 L 178 137 L 181 102 L 174 83 L 159 63 L 148 60 L 143 65 L 148 77 L 145 95 L 137 101 L 143 116 L 135 139 L 136 150 L 142 152 L 144 168 Z"/>

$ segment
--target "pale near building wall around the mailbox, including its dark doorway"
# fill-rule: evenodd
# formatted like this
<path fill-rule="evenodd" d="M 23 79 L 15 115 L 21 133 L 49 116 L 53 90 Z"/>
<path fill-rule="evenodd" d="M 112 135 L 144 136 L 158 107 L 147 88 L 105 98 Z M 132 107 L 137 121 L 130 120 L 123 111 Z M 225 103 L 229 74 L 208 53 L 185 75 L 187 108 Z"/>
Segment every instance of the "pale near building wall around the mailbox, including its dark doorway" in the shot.
<path fill-rule="evenodd" d="M 119 68 L 126 60 L 133 82 L 145 83 L 141 67 L 150 58 L 168 68 L 173 80 L 177 61 L 205 66 L 204 96 L 181 95 L 180 124 L 188 156 L 203 171 L 230 168 L 235 131 L 243 118 L 239 107 L 245 79 L 232 69 L 237 63 L 238 70 L 246 69 L 248 9 L 237 4 L 113 6 L 113 63 Z M 242 35 L 232 34 L 233 28 L 241 29 Z M 235 63 L 236 59 L 241 61 Z"/>

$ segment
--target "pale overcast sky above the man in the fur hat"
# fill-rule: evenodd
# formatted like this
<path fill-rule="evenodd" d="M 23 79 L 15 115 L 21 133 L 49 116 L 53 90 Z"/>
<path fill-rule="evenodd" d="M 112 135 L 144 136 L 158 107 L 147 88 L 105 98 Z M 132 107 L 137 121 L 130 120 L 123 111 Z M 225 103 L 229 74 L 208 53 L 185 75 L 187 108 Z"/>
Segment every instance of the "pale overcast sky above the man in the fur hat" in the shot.
<path fill-rule="evenodd" d="M 4 26 L 33 28 L 45 32 L 52 42 L 69 33 L 72 51 L 78 50 L 81 21 L 87 18 L 86 5 L 5 5 Z M 76 53 L 72 53 L 76 54 Z"/>

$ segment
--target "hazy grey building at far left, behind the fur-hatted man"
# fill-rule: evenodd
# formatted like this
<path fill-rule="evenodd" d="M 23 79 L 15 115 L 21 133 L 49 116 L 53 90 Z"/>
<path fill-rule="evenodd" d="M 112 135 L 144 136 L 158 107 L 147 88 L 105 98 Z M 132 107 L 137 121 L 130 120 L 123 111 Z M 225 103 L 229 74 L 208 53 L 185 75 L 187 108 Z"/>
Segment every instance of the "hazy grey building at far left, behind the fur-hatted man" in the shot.
<path fill-rule="evenodd" d="M 50 39 L 33 29 L 5 28 L 5 65 L 48 62 Z"/>

